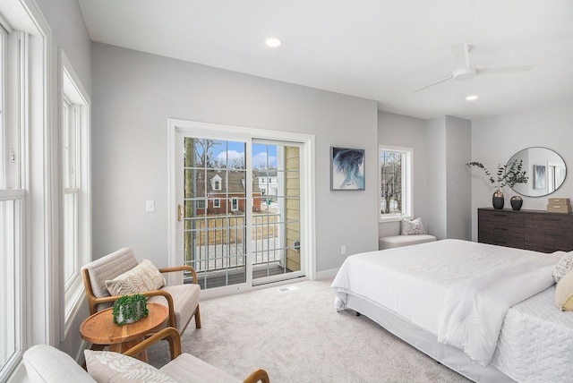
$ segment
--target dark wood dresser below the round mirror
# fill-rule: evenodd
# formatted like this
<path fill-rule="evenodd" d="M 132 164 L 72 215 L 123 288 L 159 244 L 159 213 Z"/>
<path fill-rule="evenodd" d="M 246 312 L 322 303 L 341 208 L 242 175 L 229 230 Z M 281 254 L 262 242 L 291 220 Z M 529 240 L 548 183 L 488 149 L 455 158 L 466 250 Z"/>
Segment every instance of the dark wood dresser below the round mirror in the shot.
<path fill-rule="evenodd" d="M 477 241 L 542 252 L 573 250 L 573 213 L 477 209 Z"/>

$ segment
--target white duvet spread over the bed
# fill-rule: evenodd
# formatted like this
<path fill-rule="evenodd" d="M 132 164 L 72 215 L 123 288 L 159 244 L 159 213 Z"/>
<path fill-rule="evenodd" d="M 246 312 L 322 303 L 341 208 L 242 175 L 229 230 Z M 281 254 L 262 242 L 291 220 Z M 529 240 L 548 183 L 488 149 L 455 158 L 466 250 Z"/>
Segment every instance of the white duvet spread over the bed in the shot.
<path fill-rule="evenodd" d="M 344 310 L 346 294 L 358 295 L 485 365 L 506 311 L 553 285 L 560 255 L 460 240 L 355 254 L 332 283 L 335 307 Z"/>

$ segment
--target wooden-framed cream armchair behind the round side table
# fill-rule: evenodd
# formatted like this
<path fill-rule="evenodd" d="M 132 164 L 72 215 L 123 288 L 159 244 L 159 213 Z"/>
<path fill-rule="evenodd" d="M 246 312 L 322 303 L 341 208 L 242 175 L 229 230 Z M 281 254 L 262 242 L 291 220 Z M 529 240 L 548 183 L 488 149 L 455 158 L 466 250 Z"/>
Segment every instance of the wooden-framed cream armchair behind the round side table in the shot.
<path fill-rule="evenodd" d="M 81 268 L 83 284 L 90 314 L 111 307 L 120 295 L 112 295 L 107 290 L 106 281 L 125 276 L 140 265 L 133 251 L 127 247 L 112 252 L 99 260 L 94 260 Z M 164 285 L 156 290 L 140 291 L 148 297 L 148 302 L 162 303 L 169 309 L 167 326 L 176 328 L 183 334 L 185 328 L 195 317 L 195 327 L 201 328 L 199 300 L 201 288 L 197 285 L 197 273 L 190 266 L 158 268 L 160 273 L 189 271 L 193 277 L 192 284 Z"/>

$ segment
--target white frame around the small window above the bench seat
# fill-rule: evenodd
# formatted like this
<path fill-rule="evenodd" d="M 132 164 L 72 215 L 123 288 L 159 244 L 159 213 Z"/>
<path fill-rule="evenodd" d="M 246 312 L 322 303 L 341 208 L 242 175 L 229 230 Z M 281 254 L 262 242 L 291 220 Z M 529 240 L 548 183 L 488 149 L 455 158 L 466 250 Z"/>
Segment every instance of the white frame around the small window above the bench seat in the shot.
<path fill-rule="evenodd" d="M 382 180 L 381 180 L 381 152 L 391 151 L 402 154 L 402 212 L 381 214 L 382 206 Z M 399 221 L 402 218 L 411 218 L 413 204 L 413 169 L 414 164 L 414 149 L 390 145 L 378 146 L 378 211 L 380 222 Z"/>

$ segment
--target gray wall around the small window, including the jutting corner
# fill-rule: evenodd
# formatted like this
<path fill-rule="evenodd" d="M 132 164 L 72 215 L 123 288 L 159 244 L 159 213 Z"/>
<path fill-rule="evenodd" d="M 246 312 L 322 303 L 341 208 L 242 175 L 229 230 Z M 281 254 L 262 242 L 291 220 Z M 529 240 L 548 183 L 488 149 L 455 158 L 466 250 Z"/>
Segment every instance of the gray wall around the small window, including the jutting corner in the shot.
<path fill-rule="evenodd" d="M 414 209 L 429 234 L 471 237 L 470 176 L 465 165 L 471 148 L 471 122 L 441 116 L 425 121 L 378 113 L 378 142 L 414 148 Z M 400 234 L 399 222 L 381 222 L 379 236 Z"/>

